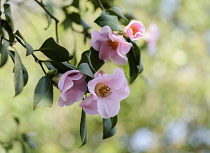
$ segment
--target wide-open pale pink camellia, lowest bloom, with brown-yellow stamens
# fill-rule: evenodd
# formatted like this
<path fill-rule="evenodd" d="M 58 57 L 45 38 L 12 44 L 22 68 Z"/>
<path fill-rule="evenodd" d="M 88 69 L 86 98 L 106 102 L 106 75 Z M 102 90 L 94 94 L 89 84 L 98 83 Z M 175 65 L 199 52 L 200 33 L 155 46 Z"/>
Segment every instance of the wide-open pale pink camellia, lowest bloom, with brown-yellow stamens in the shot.
<path fill-rule="evenodd" d="M 120 101 L 130 93 L 123 71 L 116 68 L 113 74 L 99 71 L 94 79 L 88 82 L 90 95 L 80 103 L 80 107 L 90 115 L 100 114 L 102 118 L 117 115 Z"/>

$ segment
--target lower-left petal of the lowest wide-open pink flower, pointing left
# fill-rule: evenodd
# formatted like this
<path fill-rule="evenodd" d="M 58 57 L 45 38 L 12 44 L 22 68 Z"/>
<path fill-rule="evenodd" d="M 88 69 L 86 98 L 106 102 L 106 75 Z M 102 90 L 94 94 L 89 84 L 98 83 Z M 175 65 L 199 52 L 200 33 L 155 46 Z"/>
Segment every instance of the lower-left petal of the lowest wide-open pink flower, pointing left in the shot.
<path fill-rule="evenodd" d="M 90 115 L 98 114 L 97 101 L 94 100 L 94 96 L 92 94 L 89 95 L 85 100 L 83 100 L 80 103 L 79 107 L 82 107 L 87 114 Z"/>

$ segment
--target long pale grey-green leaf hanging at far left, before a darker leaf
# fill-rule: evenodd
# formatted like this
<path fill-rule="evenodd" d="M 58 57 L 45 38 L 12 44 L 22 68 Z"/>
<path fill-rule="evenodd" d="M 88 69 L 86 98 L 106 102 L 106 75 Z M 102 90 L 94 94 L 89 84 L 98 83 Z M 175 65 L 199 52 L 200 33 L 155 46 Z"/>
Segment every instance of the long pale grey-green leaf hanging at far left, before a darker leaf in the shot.
<path fill-rule="evenodd" d="M 24 87 L 23 64 L 17 51 L 15 51 L 14 67 L 15 96 L 20 94 Z"/>

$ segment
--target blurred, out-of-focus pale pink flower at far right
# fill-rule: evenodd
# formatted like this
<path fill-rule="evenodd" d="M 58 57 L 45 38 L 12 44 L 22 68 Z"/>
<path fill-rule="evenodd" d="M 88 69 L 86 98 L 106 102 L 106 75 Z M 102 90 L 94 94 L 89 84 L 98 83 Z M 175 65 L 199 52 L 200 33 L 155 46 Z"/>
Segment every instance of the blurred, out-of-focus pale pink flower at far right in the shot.
<path fill-rule="evenodd" d="M 156 53 L 156 43 L 160 36 L 158 26 L 154 23 L 150 24 L 148 30 L 146 30 L 143 39 L 147 42 L 149 53 L 154 56 Z"/>

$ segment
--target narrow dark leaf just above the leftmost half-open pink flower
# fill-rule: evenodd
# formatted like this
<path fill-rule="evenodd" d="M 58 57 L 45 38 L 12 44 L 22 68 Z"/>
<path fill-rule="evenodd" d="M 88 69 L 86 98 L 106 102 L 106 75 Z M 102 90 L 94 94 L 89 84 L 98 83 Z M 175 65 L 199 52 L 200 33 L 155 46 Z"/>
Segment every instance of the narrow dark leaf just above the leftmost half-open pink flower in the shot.
<path fill-rule="evenodd" d="M 65 73 L 69 70 L 76 70 L 77 68 L 69 63 L 66 62 L 57 62 L 57 61 L 50 61 L 44 62 L 49 70 L 57 69 L 59 73 Z"/>

